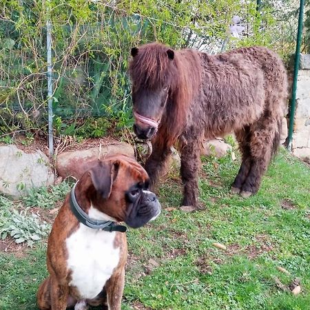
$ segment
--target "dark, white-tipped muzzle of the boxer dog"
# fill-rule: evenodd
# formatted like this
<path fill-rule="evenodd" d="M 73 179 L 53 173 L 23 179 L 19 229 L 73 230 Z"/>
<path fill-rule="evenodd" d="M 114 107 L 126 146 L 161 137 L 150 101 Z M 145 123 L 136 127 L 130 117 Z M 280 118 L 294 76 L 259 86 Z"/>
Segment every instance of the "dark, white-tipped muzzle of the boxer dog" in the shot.
<path fill-rule="evenodd" d="M 161 204 L 156 195 L 143 190 L 141 196 L 128 207 L 125 223 L 132 228 L 142 227 L 150 220 L 155 220 L 159 214 Z"/>

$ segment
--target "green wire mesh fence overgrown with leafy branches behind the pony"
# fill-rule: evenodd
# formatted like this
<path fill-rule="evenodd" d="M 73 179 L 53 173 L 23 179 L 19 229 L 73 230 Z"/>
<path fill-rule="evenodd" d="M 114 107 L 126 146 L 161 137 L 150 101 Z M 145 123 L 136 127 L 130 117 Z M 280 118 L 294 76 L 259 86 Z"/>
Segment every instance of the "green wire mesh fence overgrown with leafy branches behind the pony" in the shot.
<path fill-rule="evenodd" d="M 46 23 L 52 23 L 54 135 L 102 136 L 132 125 L 130 48 L 161 41 L 209 53 L 267 45 L 287 56 L 294 1 L 1 1 L 0 138 L 47 132 Z M 286 7 L 281 6 L 285 3 Z M 242 30 L 234 34 L 231 19 Z"/>

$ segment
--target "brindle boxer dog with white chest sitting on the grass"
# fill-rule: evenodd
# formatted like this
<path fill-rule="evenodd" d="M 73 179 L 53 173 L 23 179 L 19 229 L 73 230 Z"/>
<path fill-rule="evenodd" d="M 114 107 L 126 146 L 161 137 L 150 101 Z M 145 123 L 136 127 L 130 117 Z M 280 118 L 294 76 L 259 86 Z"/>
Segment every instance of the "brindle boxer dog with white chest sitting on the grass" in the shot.
<path fill-rule="evenodd" d="M 148 184 L 145 169 L 124 155 L 106 157 L 83 174 L 48 238 L 50 276 L 37 292 L 39 309 L 121 309 L 127 240 L 119 222 L 138 228 L 161 213 Z"/>

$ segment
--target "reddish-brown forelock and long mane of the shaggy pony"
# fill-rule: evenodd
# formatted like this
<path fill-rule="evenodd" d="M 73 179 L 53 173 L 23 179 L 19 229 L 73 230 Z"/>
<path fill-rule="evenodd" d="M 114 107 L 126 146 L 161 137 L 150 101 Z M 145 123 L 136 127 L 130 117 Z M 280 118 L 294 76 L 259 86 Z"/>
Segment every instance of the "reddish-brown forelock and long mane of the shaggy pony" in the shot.
<path fill-rule="evenodd" d="M 149 43 L 138 48 L 138 53 L 130 62 L 129 73 L 134 87 L 163 87 L 167 75 L 172 76 L 169 104 L 165 116 L 174 115 L 174 120 L 162 120 L 165 145 L 173 145 L 186 122 L 189 105 L 200 87 L 201 65 L 195 50 L 174 50 L 173 63 L 167 56 L 169 48 L 161 43 Z M 161 140 L 161 139 L 160 139 Z"/>

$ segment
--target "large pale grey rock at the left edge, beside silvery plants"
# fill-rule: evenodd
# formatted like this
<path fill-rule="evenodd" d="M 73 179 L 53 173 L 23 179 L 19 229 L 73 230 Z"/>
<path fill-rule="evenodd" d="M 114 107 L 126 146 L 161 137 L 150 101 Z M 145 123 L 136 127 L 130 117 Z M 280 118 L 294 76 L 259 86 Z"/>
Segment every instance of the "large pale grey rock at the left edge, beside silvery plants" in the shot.
<path fill-rule="evenodd" d="M 0 192 L 20 198 L 32 187 L 54 183 L 48 157 L 40 150 L 25 153 L 15 145 L 0 146 Z"/>

